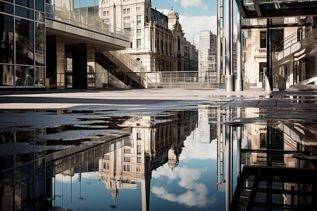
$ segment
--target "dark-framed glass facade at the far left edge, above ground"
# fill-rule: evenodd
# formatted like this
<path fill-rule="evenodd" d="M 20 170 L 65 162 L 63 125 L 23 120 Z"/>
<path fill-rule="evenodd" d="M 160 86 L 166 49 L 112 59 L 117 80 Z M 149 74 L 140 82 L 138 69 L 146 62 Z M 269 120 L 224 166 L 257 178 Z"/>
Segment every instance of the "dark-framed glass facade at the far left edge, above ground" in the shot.
<path fill-rule="evenodd" d="M 1 87 L 45 86 L 43 0 L 0 0 Z"/>

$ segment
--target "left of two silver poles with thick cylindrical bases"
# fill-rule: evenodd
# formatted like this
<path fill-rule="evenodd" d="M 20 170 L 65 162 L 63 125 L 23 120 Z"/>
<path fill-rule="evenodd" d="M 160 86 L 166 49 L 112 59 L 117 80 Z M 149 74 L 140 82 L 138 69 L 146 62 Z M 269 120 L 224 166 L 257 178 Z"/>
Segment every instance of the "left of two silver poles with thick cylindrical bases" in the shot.
<path fill-rule="evenodd" d="M 226 1 L 226 75 L 224 78 L 225 90 L 234 91 L 233 76 L 233 0 Z"/>

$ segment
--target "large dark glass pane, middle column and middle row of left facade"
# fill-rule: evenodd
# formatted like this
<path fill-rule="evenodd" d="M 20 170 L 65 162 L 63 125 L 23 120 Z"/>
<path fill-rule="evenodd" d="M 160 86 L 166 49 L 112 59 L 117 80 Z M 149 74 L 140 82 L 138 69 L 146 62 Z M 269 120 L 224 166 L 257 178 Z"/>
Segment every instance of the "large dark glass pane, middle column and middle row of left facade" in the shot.
<path fill-rule="evenodd" d="M 16 18 L 16 63 L 33 65 L 33 22 Z"/>

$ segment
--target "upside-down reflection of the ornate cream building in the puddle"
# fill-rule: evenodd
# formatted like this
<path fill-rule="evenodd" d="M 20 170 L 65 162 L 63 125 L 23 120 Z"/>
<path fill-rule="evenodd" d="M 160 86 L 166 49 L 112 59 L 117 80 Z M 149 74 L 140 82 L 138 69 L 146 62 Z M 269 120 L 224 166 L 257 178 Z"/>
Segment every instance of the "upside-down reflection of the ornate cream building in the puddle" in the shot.
<path fill-rule="evenodd" d="M 148 210 L 151 171 L 166 162 L 172 170 L 178 165 L 184 140 L 196 128 L 196 122 L 197 111 L 178 111 L 122 123 L 132 126 L 130 140 L 111 145 L 99 160 L 99 177 L 111 190 L 114 202 L 120 189 L 141 183 L 142 210 Z"/>

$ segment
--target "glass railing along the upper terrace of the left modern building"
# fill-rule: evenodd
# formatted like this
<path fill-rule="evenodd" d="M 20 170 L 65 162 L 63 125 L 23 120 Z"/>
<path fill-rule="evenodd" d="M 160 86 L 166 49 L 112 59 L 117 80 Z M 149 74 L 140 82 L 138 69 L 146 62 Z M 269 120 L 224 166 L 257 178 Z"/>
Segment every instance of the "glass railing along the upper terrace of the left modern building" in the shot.
<path fill-rule="evenodd" d="M 80 13 L 65 10 L 51 4 L 46 4 L 46 18 L 51 18 L 56 21 L 61 21 L 81 28 L 131 41 L 130 31 L 128 30 L 104 23 L 102 19 L 97 20 L 96 18 L 84 16 Z"/>

